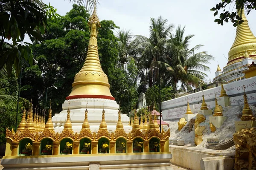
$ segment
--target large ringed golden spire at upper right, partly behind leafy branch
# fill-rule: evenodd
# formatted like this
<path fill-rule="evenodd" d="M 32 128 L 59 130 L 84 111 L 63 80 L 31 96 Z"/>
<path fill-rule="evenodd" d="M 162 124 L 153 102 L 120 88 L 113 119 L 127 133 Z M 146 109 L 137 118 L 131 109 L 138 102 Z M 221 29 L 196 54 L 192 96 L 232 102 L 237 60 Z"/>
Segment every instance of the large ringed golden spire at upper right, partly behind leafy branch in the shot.
<path fill-rule="evenodd" d="M 228 53 L 228 65 L 236 62 L 235 60 L 244 57 L 245 50 L 247 50 L 250 55 L 254 56 L 252 57 L 253 59 L 256 58 L 256 37 L 250 30 L 248 20 L 244 14 L 244 9 L 237 11 L 237 14 L 244 22 L 238 25 L 236 28 L 236 38 Z"/>

